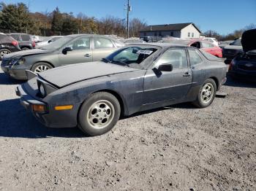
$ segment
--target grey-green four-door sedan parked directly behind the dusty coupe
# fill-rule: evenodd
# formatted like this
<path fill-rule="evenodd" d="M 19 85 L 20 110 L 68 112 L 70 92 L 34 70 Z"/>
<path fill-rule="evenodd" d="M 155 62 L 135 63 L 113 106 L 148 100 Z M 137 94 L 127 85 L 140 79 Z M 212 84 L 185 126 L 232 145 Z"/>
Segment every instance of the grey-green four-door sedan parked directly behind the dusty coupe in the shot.
<path fill-rule="evenodd" d="M 122 46 L 124 43 L 107 36 L 69 35 L 40 49 L 6 55 L 1 69 L 12 78 L 26 79 L 26 70 L 39 73 L 71 63 L 100 61 Z"/>

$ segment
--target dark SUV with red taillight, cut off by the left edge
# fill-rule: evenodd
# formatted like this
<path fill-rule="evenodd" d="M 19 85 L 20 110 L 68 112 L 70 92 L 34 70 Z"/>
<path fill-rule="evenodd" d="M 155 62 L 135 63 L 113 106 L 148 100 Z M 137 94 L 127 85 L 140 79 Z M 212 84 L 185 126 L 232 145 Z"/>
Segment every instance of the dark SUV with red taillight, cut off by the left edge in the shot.
<path fill-rule="evenodd" d="M 18 42 L 11 36 L 0 33 L 0 61 L 4 55 L 20 50 Z"/>

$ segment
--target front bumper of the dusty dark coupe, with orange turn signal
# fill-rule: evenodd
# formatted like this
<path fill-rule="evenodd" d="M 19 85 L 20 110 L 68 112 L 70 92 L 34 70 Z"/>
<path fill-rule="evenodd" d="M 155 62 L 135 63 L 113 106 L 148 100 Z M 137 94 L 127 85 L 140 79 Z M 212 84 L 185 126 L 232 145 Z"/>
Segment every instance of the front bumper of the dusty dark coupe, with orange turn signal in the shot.
<path fill-rule="evenodd" d="M 26 93 L 25 85 L 26 84 L 16 87 L 16 95 L 20 96 L 20 104 L 31 112 L 39 122 L 48 128 L 73 128 L 77 126 L 78 105 L 75 105 L 74 108 L 70 110 L 56 111 L 54 106 L 39 101 L 29 95 L 29 93 Z M 34 112 L 33 105 L 44 105 L 48 111 Z"/>

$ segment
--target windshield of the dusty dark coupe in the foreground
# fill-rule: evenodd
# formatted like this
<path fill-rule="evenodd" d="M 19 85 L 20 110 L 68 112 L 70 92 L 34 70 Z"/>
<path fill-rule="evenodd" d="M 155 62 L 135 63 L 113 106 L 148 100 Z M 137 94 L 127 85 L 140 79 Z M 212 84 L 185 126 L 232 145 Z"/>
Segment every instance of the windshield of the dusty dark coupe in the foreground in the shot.
<path fill-rule="evenodd" d="M 143 66 L 140 66 L 140 63 L 156 51 L 156 47 L 126 47 L 113 52 L 107 58 L 103 58 L 102 61 L 142 69 Z"/>

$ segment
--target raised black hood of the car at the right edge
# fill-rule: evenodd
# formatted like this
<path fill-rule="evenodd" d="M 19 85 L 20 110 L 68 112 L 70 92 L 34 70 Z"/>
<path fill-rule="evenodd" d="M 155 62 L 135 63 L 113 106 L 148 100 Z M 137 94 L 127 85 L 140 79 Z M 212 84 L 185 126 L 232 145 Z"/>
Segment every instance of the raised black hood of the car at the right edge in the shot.
<path fill-rule="evenodd" d="M 256 28 L 245 31 L 242 35 L 241 44 L 243 46 L 244 52 L 249 50 L 256 50 Z"/>

